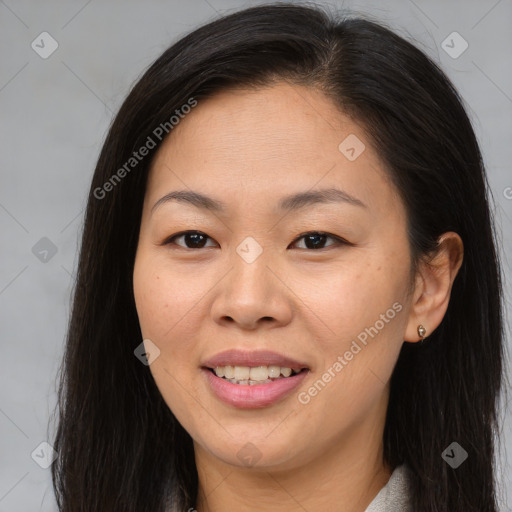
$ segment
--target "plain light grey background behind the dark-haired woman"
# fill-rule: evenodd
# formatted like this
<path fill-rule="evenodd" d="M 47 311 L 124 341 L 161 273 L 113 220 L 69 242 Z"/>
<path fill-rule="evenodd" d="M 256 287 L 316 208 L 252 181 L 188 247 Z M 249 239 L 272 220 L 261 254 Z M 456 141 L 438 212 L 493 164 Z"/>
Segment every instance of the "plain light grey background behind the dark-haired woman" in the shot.
<path fill-rule="evenodd" d="M 219 14 L 256 3 L 264 2 L 0 0 L 0 512 L 56 510 L 50 469 L 31 454 L 36 450 L 34 459 L 44 461 L 51 453 L 39 445 L 51 440 L 48 418 L 85 197 L 113 113 L 171 42 Z M 510 316 L 512 0 L 329 5 L 371 14 L 413 38 L 461 92 L 495 198 Z M 38 36 L 44 31 L 58 42 L 47 59 L 31 47 L 34 40 L 42 46 Z M 469 44 L 458 58 L 442 46 L 453 31 Z M 43 237 L 51 243 L 40 242 Z M 510 324 L 507 335 L 510 340 Z M 512 453 L 512 415 L 505 406 L 502 411 L 498 468 L 505 511 L 512 510 L 506 457 Z"/>

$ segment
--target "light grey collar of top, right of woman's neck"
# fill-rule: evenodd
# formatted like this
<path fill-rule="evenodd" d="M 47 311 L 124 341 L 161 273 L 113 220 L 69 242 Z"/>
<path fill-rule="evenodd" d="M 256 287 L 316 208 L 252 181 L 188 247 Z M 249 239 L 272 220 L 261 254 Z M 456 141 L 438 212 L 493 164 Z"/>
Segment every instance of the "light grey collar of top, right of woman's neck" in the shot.
<path fill-rule="evenodd" d="M 397 466 L 364 512 L 411 512 L 409 471 L 405 464 Z"/>

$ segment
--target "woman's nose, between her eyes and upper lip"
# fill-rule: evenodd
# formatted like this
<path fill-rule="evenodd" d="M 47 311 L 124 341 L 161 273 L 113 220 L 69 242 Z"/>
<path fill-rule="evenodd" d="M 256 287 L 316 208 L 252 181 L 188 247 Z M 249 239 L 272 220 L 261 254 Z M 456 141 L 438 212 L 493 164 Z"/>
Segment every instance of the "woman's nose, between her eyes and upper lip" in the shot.
<path fill-rule="evenodd" d="M 293 293 L 265 251 L 248 263 L 238 254 L 217 288 L 212 304 L 213 320 L 255 330 L 286 325 L 293 314 Z"/>

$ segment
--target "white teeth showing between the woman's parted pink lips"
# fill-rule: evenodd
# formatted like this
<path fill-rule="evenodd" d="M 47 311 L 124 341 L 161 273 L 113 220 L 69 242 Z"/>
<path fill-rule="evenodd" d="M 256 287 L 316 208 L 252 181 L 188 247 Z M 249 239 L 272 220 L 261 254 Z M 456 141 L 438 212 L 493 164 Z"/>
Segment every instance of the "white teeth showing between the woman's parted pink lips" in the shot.
<path fill-rule="evenodd" d="M 255 386 L 260 384 L 271 384 L 277 380 L 288 379 L 300 373 L 309 371 L 309 368 L 290 368 L 286 366 L 216 366 L 210 368 L 203 367 L 209 370 L 213 375 L 219 377 L 231 384 L 241 386 Z"/>

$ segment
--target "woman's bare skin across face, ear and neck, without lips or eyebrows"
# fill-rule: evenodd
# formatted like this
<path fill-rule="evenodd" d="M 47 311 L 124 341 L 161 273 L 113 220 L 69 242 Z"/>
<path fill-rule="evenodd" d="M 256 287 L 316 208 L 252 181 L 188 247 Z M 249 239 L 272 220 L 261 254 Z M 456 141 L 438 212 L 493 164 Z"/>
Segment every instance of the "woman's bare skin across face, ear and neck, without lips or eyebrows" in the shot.
<path fill-rule="evenodd" d="M 338 149 L 349 134 L 366 146 L 354 161 Z M 276 209 L 283 196 L 328 187 L 366 207 Z M 151 212 L 181 189 L 227 210 L 174 201 Z M 184 230 L 206 234 L 206 246 L 189 237 L 163 244 Z M 310 248 L 298 237 L 311 231 L 352 245 L 327 238 Z M 248 236 L 263 249 L 252 263 L 236 252 Z M 420 340 L 419 324 L 427 337 L 440 324 L 462 254 L 460 237 L 445 233 L 431 265 L 411 275 L 405 210 L 384 165 L 364 130 L 321 92 L 278 82 L 201 100 L 152 164 L 133 276 L 143 337 L 160 350 L 151 373 L 194 441 L 196 509 L 364 511 L 394 469 L 382 436 L 400 349 Z M 300 403 L 299 392 L 394 303 L 401 311 Z M 239 409 L 213 395 L 200 369 L 228 348 L 274 350 L 307 362 L 310 373 L 284 400 Z M 260 457 L 252 467 L 237 457 L 248 442 Z"/>

